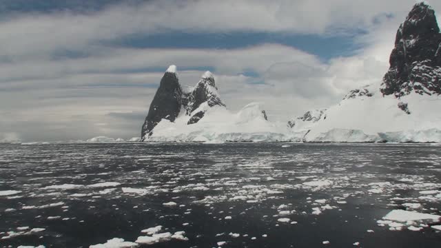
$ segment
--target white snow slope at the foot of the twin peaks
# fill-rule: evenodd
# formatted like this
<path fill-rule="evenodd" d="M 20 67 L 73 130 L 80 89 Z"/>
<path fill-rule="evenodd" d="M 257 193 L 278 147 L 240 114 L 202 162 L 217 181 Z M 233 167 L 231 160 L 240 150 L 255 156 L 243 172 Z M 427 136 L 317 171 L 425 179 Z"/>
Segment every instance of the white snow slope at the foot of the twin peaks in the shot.
<path fill-rule="evenodd" d="M 188 115 L 181 112 L 174 123 L 163 119 L 147 141 L 209 142 L 226 141 L 275 142 L 290 141 L 287 127 L 265 120 L 259 103 L 250 103 L 238 113 L 223 106 L 201 104 L 194 112 L 205 111 L 198 123 L 187 125 Z"/>

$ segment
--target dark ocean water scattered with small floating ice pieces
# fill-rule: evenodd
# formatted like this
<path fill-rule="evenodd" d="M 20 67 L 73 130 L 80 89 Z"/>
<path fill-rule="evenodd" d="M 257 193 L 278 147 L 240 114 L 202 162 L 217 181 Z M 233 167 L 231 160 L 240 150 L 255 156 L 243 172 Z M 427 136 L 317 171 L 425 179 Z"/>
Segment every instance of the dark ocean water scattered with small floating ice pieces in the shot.
<path fill-rule="evenodd" d="M 441 247 L 394 209 L 441 215 L 440 146 L 0 145 L 0 247 Z"/>

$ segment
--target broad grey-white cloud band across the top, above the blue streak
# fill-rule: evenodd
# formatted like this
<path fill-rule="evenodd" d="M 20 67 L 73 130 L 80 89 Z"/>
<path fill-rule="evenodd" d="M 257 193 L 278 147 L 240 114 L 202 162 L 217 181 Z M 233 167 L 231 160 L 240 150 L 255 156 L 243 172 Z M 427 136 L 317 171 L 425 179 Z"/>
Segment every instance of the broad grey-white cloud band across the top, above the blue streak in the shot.
<path fill-rule="evenodd" d="M 167 32 L 337 35 L 368 29 L 384 14 L 404 19 L 413 3 L 413 0 L 175 0 L 119 3 L 85 13 L 26 12 L 1 21 L 0 52 L 6 60 L 41 59 L 63 50 L 99 49 L 96 46 L 99 41 L 130 34 Z M 432 4 L 435 9 L 441 8 L 438 1 Z"/>

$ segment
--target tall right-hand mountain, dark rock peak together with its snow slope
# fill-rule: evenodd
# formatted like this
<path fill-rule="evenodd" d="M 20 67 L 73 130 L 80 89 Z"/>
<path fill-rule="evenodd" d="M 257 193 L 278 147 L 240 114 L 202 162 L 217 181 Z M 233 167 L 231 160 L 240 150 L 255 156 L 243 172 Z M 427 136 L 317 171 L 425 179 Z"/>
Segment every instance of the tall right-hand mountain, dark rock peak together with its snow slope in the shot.
<path fill-rule="evenodd" d="M 413 6 L 378 84 L 351 90 L 319 121 L 293 125 L 307 142 L 441 142 L 441 34 L 434 11 Z"/>

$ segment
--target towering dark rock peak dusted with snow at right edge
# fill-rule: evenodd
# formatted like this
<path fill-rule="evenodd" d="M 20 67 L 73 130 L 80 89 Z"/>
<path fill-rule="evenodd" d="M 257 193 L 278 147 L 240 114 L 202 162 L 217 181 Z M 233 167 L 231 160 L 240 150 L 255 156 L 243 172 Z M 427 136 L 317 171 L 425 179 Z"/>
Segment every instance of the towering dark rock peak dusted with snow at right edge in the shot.
<path fill-rule="evenodd" d="M 413 6 L 398 29 L 389 63 L 382 94 L 441 94 L 441 34 L 431 7 Z"/>

